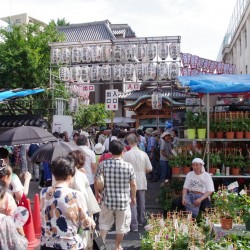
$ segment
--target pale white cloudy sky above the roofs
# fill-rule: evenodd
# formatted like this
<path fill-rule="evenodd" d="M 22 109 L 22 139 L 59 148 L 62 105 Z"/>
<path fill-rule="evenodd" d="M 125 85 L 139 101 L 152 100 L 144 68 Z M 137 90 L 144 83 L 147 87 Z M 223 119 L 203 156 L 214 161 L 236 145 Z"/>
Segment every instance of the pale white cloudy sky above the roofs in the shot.
<path fill-rule="evenodd" d="M 181 52 L 216 60 L 236 0 L 1 0 L 0 17 L 27 13 L 48 23 L 109 20 L 137 37 L 181 36 Z"/>

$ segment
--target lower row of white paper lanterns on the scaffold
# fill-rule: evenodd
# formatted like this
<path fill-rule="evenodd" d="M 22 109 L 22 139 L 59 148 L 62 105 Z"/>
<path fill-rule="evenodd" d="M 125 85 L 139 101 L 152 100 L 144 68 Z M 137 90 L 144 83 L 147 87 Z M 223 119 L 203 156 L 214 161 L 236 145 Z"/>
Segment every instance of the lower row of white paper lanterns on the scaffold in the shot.
<path fill-rule="evenodd" d="M 179 75 L 179 63 L 160 62 L 156 63 L 138 63 L 138 64 L 104 64 L 102 66 L 93 64 L 60 67 L 59 78 L 64 82 L 99 82 L 99 81 L 150 81 L 150 80 L 168 80 L 174 79 Z"/>

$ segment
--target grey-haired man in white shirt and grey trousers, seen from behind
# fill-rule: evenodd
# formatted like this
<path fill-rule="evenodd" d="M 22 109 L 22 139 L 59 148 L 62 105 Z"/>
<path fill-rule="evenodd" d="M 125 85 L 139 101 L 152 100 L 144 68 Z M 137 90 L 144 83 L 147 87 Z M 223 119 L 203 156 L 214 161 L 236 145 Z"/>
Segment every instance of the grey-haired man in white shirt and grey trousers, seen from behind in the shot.
<path fill-rule="evenodd" d="M 145 220 L 145 193 L 147 190 L 146 173 L 152 171 L 152 165 L 148 155 L 137 147 L 138 138 L 135 134 L 126 137 L 131 149 L 123 157 L 124 161 L 131 163 L 135 170 L 136 176 L 136 204 L 131 204 L 131 225 L 133 232 L 138 231 L 138 225 L 143 225 Z"/>

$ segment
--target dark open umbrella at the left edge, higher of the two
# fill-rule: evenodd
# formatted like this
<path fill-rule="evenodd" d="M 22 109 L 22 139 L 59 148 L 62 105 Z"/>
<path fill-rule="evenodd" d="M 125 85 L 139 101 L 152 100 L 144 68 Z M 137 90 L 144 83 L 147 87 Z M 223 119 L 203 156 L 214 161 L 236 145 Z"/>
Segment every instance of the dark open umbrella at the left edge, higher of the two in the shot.
<path fill-rule="evenodd" d="M 43 143 L 56 140 L 57 138 L 47 130 L 33 126 L 15 127 L 0 134 L 1 146 Z"/>

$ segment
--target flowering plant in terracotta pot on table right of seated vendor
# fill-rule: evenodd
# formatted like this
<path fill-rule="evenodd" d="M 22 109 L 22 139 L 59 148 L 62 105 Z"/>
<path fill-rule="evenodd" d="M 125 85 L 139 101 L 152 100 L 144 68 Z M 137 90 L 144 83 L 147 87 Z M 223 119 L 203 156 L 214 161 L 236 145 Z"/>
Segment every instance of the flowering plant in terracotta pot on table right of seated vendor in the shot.
<path fill-rule="evenodd" d="M 218 190 L 212 196 L 216 211 L 220 215 L 221 227 L 223 229 L 231 229 L 233 219 L 235 219 L 240 211 L 240 198 L 237 193 L 228 190 Z"/>

